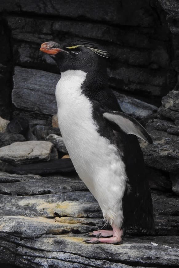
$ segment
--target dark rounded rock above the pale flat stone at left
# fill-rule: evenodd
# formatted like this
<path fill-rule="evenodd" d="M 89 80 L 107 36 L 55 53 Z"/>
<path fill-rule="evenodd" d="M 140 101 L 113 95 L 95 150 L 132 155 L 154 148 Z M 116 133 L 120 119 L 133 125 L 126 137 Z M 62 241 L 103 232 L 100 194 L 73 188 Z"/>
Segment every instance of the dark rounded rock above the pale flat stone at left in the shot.
<path fill-rule="evenodd" d="M 25 135 L 29 126 L 29 121 L 24 117 L 17 117 L 10 121 L 8 130 L 12 133 Z"/>

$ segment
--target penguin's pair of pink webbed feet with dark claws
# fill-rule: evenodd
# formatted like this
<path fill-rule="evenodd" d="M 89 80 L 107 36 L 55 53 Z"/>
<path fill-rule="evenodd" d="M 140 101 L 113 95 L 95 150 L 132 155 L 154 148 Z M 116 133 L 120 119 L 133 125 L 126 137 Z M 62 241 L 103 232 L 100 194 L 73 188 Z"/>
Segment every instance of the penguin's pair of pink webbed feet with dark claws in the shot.
<path fill-rule="evenodd" d="M 97 243 L 109 243 L 114 245 L 119 245 L 122 243 L 122 233 L 123 231 L 118 229 L 116 226 L 112 226 L 113 231 L 99 230 L 88 233 L 90 236 L 95 235 L 96 238 L 86 239 L 83 242 L 90 244 Z M 110 236 L 110 237 L 109 237 Z"/>

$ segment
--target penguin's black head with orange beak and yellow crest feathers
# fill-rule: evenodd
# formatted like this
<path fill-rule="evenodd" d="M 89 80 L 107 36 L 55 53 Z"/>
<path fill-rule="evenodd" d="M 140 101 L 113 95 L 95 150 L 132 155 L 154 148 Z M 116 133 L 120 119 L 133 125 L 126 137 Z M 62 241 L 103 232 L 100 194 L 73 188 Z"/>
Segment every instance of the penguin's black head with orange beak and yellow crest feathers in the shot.
<path fill-rule="evenodd" d="M 104 58 L 108 58 L 106 51 L 100 50 L 93 43 L 75 41 L 60 46 L 55 42 L 41 45 L 40 51 L 49 54 L 57 63 L 60 72 L 68 70 L 82 70 L 89 73 L 106 67 Z"/>

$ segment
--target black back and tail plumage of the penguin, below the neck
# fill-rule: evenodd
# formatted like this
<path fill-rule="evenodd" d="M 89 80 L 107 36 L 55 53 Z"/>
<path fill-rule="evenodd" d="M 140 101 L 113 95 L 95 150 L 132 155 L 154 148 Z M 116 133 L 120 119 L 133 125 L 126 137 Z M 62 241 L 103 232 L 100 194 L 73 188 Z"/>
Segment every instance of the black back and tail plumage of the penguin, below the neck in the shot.
<path fill-rule="evenodd" d="M 98 132 L 105 136 L 111 143 L 117 145 L 123 152 L 122 159 L 125 163 L 128 181 L 123 197 L 123 228 L 136 229 L 140 234 L 153 234 L 153 205 L 149 183 L 145 177 L 145 164 L 143 154 L 136 136 L 126 135 L 122 130 L 115 132 L 112 123 L 103 119 L 105 111 L 121 111 L 113 92 L 108 89 L 84 92 L 93 103 L 93 118 L 98 124 Z"/>

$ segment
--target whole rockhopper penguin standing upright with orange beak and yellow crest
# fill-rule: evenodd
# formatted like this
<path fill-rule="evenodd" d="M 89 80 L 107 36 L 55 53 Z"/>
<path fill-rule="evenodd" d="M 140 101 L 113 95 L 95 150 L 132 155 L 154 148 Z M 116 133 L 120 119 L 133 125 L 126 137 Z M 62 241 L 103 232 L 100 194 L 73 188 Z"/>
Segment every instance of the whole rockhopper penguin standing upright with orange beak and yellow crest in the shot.
<path fill-rule="evenodd" d="M 109 54 L 82 40 L 46 42 L 40 51 L 60 70 L 55 93 L 58 124 L 70 158 L 111 226 L 88 233 L 84 242 L 121 244 L 130 228 L 152 234 L 152 199 L 137 138 L 150 144 L 152 139 L 122 112 L 109 88 Z"/>

